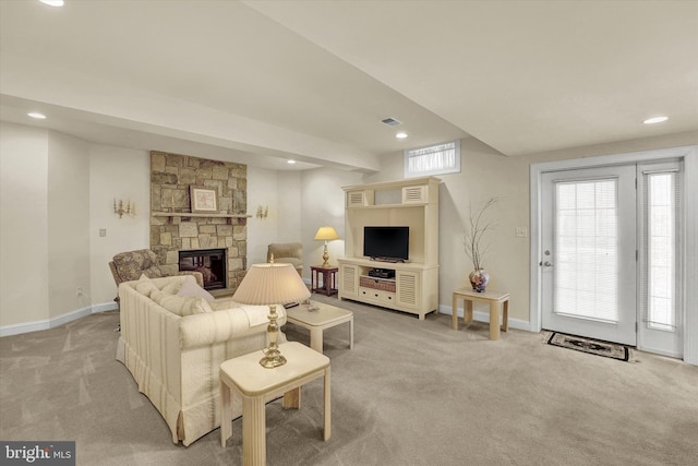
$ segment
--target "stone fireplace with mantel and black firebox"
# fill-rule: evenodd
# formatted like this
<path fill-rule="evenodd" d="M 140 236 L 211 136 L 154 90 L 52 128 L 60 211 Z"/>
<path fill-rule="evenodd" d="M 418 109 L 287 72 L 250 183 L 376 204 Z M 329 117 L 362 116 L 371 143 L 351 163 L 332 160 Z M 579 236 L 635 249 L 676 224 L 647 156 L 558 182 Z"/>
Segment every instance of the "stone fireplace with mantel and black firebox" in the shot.
<path fill-rule="evenodd" d="M 248 265 L 246 184 L 246 165 L 152 151 L 151 249 L 159 263 L 210 268 L 217 279 L 208 289 L 234 291 Z M 215 190 L 217 211 L 193 213 L 192 187 Z M 210 250 L 224 253 L 212 258 Z M 180 259 L 183 251 L 191 254 Z"/>

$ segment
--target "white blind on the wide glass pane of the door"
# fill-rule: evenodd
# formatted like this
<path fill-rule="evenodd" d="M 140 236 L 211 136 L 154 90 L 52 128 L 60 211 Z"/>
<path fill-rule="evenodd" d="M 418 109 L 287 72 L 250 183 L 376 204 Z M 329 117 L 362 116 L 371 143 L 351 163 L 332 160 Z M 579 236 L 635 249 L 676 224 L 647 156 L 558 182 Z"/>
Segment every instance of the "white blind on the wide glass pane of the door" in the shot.
<path fill-rule="evenodd" d="M 554 312 L 618 321 L 617 180 L 555 187 Z"/>

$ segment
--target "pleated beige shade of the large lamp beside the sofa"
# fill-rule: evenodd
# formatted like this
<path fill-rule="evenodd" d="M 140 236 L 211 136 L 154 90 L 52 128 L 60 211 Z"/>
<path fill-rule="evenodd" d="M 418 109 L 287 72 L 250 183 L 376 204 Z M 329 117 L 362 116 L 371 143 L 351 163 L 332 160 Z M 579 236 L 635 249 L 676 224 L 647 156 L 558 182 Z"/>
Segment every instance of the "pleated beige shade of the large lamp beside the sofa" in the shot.
<path fill-rule="evenodd" d="M 243 304 L 277 304 L 310 298 L 308 286 L 291 264 L 253 264 L 232 296 Z"/>

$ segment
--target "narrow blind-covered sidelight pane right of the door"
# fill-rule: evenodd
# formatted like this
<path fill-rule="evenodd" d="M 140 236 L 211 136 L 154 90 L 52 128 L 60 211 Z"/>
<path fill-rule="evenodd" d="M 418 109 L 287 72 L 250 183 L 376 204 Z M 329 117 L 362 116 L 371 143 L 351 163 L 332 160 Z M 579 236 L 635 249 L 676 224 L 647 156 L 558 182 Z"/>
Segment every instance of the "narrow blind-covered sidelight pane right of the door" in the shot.
<path fill-rule="evenodd" d="M 643 172 L 642 321 L 649 328 L 667 332 L 676 328 L 676 226 L 681 192 L 677 175 Z"/>

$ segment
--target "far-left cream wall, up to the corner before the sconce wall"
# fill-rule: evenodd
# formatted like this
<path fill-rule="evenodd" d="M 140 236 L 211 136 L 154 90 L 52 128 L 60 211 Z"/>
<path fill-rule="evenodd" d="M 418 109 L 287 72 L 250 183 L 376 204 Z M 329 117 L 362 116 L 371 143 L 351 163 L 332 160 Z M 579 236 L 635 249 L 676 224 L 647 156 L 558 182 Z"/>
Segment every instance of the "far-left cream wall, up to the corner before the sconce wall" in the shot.
<path fill-rule="evenodd" d="M 89 312 L 87 144 L 1 123 L 0 154 L 0 326 Z"/>

